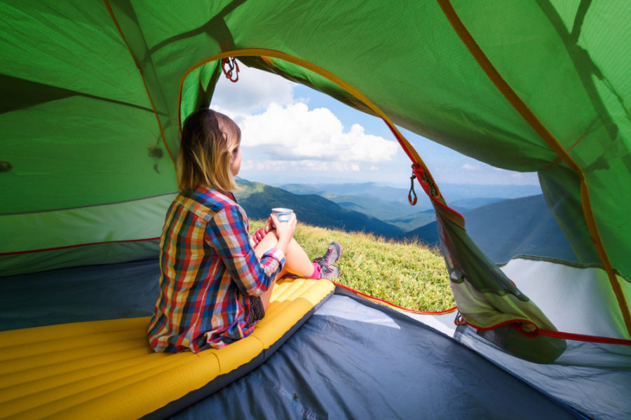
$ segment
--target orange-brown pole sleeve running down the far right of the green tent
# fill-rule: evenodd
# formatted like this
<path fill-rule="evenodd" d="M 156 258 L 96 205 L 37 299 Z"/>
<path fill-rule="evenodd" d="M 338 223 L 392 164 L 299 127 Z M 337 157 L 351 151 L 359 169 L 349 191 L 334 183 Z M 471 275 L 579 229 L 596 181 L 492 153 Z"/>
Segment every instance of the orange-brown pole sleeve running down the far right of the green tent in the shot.
<path fill-rule="evenodd" d="M 534 113 L 529 109 L 527 104 L 522 101 L 522 99 L 515 93 L 512 87 L 508 85 L 506 80 L 501 76 L 501 74 L 497 71 L 497 69 L 493 66 L 489 58 L 484 54 L 480 45 L 477 45 L 475 39 L 470 34 L 470 32 L 466 29 L 463 22 L 460 20 L 456 10 L 452 6 L 452 3 L 449 0 L 437 0 L 440 8 L 443 13 L 449 20 L 449 23 L 456 31 L 456 34 L 460 37 L 461 41 L 466 45 L 471 55 L 477 62 L 477 64 L 482 67 L 484 73 L 487 74 L 491 82 L 498 88 L 501 94 L 506 97 L 508 102 L 515 108 L 517 112 L 520 113 L 522 118 L 527 121 L 527 123 L 541 136 L 543 141 L 555 151 L 559 158 L 563 160 L 571 169 L 574 170 L 578 174 L 581 179 L 581 202 L 583 203 L 583 215 L 585 216 L 585 222 L 588 225 L 588 230 L 590 232 L 590 237 L 592 239 L 592 243 L 598 253 L 598 256 L 604 266 L 604 269 L 607 272 L 607 276 L 609 276 L 609 283 L 611 283 L 611 288 L 613 289 L 613 293 L 616 295 L 616 300 L 618 300 L 618 306 L 620 307 L 620 312 L 622 313 L 623 320 L 625 322 L 625 326 L 627 328 L 627 332 L 631 335 L 631 314 L 629 313 L 629 306 L 627 304 L 627 300 L 623 293 L 622 288 L 620 288 L 620 283 L 618 283 L 618 279 L 616 278 L 616 272 L 611 265 L 611 261 L 609 260 L 609 255 L 604 248 L 604 244 L 602 242 L 602 237 L 598 231 L 598 226 L 596 223 L 596 218 L 594 217 L 594 213 L 592 211 L 592 205 L 590 202 L 590 193 L 587 185 L 587 181 L 585 180 L 585 174 L 583 173 L 583 169 L 579 167 L 574 159 L 565 151 L 563 146 L 559 144 L 559 141 L 550 133 L 547 127 L 541 123 Z"/>

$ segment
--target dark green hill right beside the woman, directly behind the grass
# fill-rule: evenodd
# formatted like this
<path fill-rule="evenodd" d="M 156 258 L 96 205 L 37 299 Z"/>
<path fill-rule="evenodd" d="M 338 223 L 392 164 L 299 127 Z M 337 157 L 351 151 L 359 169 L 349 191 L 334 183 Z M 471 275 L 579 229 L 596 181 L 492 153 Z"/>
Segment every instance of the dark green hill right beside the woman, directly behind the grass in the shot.
<path fill-rule="evenodd" d="M 377 218 L 341 207 L 320 195 L 297 195 L 286 190 L 237 180 L 243 188 L 235 194 L 248 218 L 266 219 L 273 207 L 293 209 L 299 221 L 323 228 L 336 228 L 347 232 L 372 232 L 386 238 L 400 238 L 403 231 Z"/>

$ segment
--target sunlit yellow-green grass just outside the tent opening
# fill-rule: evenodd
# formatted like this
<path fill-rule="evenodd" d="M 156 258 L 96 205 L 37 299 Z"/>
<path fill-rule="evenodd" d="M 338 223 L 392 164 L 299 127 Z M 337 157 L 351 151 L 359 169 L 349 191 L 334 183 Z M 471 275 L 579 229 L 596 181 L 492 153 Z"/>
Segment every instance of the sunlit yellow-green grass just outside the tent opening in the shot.
<path fill-rule="evenodd" d="M 250 232 L 263 221 L 250 221 Z M 311 258 L 331 241 L 342 247 L 339 283 L 407 309 L 440 311 L 454 306 L 449 275 L 438 248 L 395 242 L 372 234 L 298 224 L 294 238 Z"/>

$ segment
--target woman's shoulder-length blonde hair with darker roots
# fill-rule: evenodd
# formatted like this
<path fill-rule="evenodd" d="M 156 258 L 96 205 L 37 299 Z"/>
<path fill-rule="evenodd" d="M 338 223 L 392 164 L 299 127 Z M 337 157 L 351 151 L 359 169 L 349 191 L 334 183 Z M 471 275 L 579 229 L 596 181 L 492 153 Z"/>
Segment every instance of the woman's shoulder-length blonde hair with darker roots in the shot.
<path fill-rule="evenodd" d="M 184 121 L 177 153 L 177 186 L 180 191 L 198 186 L 237 191 L 230 158 L 241 141 L 238 125 L 222 113 L 200 109 Z"/>

